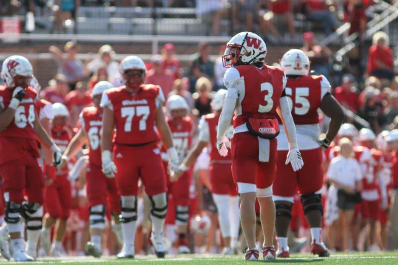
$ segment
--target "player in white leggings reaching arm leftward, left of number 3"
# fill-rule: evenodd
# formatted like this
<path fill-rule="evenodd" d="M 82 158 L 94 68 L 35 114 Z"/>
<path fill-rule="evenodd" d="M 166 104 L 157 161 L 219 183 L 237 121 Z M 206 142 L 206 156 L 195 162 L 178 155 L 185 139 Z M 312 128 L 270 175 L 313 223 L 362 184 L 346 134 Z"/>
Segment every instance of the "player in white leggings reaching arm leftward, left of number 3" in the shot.
<path fill-rule="evenodd" d="M 226 93 L 226 89 L 220 89 L 214 94 L 210 102 L 213 113 L 201 117 L 199 122 L 199 141 L 179 166 L 179 174 L 190 168 L 198 159 L 202 150 L 210 144 L 209 173 L 211 194 L 217 207 L 218 222 L 225 246 L 222 254 L 233 255 L 234 249 L 238 245 L 239 197 L 231 172 L 231 155 L 220 156 L 216 147 L 218 119 Z M 227 137 L 230 139 L 232 134 L 233 126 L 230 124 Z"/>

